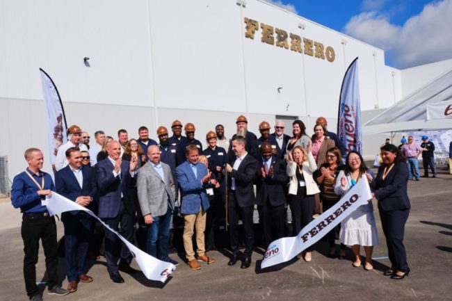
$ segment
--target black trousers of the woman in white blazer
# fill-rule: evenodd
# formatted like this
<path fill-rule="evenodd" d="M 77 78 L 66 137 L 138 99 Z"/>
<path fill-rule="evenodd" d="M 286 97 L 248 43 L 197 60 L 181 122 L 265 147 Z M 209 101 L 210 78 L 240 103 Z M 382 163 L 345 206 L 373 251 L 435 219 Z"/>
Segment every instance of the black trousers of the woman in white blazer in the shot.
<path fill-rule="evenodd" d="M 314 214 L 314 195 L 289 195 L 289 206 L 292 212 L 293 236 L 297 236 L 301 229 L 312 222 Z M 308 247 L 305 252 L 310 252 Z"/>

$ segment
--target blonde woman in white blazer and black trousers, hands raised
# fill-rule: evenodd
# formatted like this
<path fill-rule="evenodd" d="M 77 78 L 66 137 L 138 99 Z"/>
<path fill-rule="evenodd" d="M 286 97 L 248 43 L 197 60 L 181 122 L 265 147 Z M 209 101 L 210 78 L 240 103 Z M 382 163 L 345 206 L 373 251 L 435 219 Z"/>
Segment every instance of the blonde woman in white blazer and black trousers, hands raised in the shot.
<path fill-rule="evenodd" d="M 293 147 L 288 152 L 287 176 L 289 181 L 289 206 L 292 212 L 292 225 L 294 236 L 313 220 L 314 195 L 320 193 L 312 173 L 317 170 L 316 161 L 311 153 L 311 145 L 307 152 L 300 146 Z M 311 261 L 311 248 L 305 250 L 305 261 Z"/>

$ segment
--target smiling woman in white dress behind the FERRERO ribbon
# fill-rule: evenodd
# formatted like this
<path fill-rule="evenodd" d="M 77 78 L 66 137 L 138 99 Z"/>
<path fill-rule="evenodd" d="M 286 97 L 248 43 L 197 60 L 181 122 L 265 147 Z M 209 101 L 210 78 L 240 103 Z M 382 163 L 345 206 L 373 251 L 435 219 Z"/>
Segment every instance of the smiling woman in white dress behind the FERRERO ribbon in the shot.
<path fill-rule="evenodd" d="M 354 151 L 349 152 L 346 158 L 346 166 L 337 176 L 334 193 L 337 195 L 346 194 L 350 188 L 357 184 L 357 181 L 360 181 L 363 174 L 366 175 L 369 184 L 374 181 L 373 172 L 366 168 L 361 154 Z M 373 269 L 371 258 L 373 246 L 378 245 L 378 234 L 371 200 L 368 204 L 359 206 L 341 222 L 339 238 L 344 245 L 351 245 L 355 255 L 353 266 L 361 266 L 360 246 L 362 245 L 366 253 L 364 269 Z"/>

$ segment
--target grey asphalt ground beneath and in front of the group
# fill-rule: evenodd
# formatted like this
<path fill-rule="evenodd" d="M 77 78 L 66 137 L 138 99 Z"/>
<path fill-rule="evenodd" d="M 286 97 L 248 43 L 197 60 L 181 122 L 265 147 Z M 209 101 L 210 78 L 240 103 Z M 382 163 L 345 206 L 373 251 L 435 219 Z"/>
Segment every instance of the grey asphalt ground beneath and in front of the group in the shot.
<path fill-rule="evenodd" d="M 382 275 L 388 268 L 387 248 L 378 211 L 380 245 L 373 251 L 375 269 L 353 268 L 349 260 L 330 259 L 324 242 L 315 245 L 312 261 L 294 261 L 280 270 L 262 271 L 262 252 L 253 254 L 252 268 L 227 266 L 228 258 L 209 252 L 216 262 L 201 270 L 191 270 L 183 254 L 172 254 L 180 262 L 164 286 L 150 282 L 140 272 L 122 272 L 124 284 L 111 282 L 105 259 L 88 262 L 92 283 L 79 284 L 79 290 L 63 297 L 47 295 L 45 300 L 452 300 L 452 175 L 440 170 L 437 179 L 410 181 L 412 202 L 405 227 L 405 246 L 411 272 L 403 280 Z M 20 237 L 21 214 L 8 202 L 0 204 L 0 300 L 28 300 L 22 276 L 23 245 Z M 58 224 L 58 237 L 63 224 Z M 364 253 L 364 251 L 362 251 Z M 348 255 L 351 251 L 348 250 Z M 38 281 L 45 278 L 45 260 L 40 250 Z M 134 262 L 134 268 L 138 269 Z M 60 279 L 65 279 L 64 259 L 60 259 Z"/>

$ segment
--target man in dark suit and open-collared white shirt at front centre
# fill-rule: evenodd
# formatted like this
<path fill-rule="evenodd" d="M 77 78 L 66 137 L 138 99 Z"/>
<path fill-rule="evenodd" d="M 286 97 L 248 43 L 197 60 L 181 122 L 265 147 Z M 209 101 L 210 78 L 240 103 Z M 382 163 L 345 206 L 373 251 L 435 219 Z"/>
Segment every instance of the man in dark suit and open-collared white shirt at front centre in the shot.
<path fill-rule="evenodd" d="M 226 171 L 230 177 L 227 202 L 227 220 L 229 222 L 229 238 L 232 257 L 227 263 L 234 266 L 239 257 L 239 218 L 243 222 L 245 230 L 245 258 L 241 268 L 249 268 L 251 265 L 252 250 L 255 247 L 255 232 L 253 229 L 252 215 L 255 205 L 255 191 L 252 184 L 257 174 L 258 163 L 245 149 L 245 137 L 234 136 L 231 140 L 232 152 L 236 159 L 232 166 L 227 164 Z"/>

